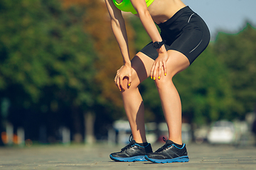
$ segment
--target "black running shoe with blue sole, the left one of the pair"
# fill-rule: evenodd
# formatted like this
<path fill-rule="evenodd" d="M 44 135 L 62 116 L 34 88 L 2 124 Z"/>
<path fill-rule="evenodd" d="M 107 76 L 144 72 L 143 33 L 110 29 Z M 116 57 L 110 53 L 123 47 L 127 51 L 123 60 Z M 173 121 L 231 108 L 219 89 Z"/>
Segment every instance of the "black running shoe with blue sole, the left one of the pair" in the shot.
<path fill-rule="evenodd" d="M 121 149 L 121 152 L 110 154 L 110 159 L 116 162 L 146 162 L 145 155 L 152 152 L 151 145 L 148 143 L 142 147 L 135 140 L 129 139 L 129 145 Z"/>

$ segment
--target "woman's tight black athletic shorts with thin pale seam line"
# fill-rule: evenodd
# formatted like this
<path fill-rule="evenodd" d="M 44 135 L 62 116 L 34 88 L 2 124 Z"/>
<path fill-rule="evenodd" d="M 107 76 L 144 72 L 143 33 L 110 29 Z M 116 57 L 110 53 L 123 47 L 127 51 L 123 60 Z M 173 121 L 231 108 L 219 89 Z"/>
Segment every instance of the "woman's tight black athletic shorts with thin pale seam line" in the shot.
<path fill-rule="evenodd" d="M 166 50 L 176 50 L 185 55 L 190 64 L 203 52 L 210 41 L 210 32 L 203 19 L 188 6 L 181 8 L 169 20 L 158 24 L 161 38 L 166 40 Z M 152 42 L 141 52 L 156 60 L 158 52 Z"/>

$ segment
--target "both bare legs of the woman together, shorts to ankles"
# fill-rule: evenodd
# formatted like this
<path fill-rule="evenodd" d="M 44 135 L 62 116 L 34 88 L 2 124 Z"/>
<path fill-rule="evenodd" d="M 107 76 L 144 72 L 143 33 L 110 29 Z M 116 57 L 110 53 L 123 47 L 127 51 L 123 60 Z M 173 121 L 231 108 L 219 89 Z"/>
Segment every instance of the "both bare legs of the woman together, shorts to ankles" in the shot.
<path fill-rule="evenodd" d="M 167 61 L 167 74 L 161 75 L 161 79 L 156 79 L 156 87 L 159 91 L 161 104 L 169 129 L 169 140 L 181 144 L 181 100 L 172 82 L 172 77 L 189 66 L 186 56 L 180 52 L 169 50 L 169 60 Z M 154 63 L 150 57 L 142 52 L 132 59 L 132 84 L 129 89 L 122 91 L 124 109 L 131 126 L 134 140 L 138 143 L 146 142 L 144 127 L 144 104 L 142 96 L 139 94 L 138 85 L 150 75 L 151 66 Z M 124 80 L 127 81 L 127 80 Z M 126 83 L 126 82 L 125 82 Z"/>

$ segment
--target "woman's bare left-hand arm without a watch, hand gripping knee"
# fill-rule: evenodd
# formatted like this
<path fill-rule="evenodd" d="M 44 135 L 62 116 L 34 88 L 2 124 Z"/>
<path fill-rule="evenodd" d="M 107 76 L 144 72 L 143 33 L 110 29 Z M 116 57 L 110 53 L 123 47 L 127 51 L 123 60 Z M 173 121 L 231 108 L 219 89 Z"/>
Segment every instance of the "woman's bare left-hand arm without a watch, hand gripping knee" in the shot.
<path fill-rule="evenodd" d="M 122 91 L 122 89 L 126 89 L 123 84 L 124 77 L 128 77 L 128 86 L 130 86 L 132 83 L 132 64 L 129 60 L 127 31 L 121 11 L 116 6 L 114 6 L 112 0 L 105 0 L 105 2 L 107 5 L 107 10 L 110 13 L 110 21 L 114 37 L 117 39 L 117 43 L 124 60 L 124 65 L 119 70 L 117 70 L 117 75 L 114 78 L 115 84 L 119 90 Z"/>

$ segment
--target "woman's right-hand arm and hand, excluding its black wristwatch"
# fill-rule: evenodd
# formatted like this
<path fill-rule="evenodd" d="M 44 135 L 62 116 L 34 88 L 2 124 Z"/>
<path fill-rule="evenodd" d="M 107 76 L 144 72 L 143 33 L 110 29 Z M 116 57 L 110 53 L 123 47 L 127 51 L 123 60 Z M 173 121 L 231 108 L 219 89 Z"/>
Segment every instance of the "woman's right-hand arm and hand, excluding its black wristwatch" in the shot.
<path fill-rule="evenodd" d="M 132 5 L 134 6 L 135 10 L 139 15 L 139 19 L 144 26 L 146 33 L 148 33 L 149 37 L 153 42 L 155 41 L 162 41 L 161 35 L 154 24 L 153 19 L 147 9 L 146 1 L 145 0 L 130 0 Z M 166 48 L 164 45 L 161 46 L 160 49 L 157 50 L 159 52 L 159 57 L 155 60 L 152 69 L 151 69 L 151 77 L 158 77 L 160 78 L 161 75 L 161 68 L 164 68 L 164 75 L 167 73 L 166 69 L 166 61 L 168 60 L 168 53 L 166 52 Z"/>

